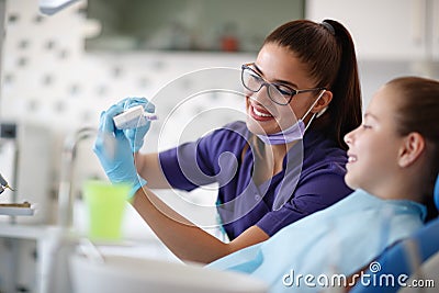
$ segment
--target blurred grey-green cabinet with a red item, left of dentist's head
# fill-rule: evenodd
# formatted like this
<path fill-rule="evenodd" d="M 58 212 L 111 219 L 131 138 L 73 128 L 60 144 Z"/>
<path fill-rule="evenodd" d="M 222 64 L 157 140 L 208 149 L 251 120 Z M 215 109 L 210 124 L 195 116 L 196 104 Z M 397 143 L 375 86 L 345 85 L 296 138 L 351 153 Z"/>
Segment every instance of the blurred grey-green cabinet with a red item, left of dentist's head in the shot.
<path fill-rule="evenodd" d="M 89 0 L 101 33 L 87 50 L 257 52 L 280 24 L 304 18 L 305 0 Z"/>

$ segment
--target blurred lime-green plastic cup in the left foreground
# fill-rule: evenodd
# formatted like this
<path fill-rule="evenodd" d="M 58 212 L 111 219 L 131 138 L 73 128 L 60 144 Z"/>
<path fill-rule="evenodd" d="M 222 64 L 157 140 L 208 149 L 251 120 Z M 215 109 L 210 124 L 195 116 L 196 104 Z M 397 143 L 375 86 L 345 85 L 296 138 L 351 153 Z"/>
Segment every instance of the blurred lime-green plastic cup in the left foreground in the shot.
<path fill-rule="evenodd" d="M 90 239 L 122 239 L 122 221 L 130 189 L 130 184 L 124 183 L 113 184 L 98 180 L 85 182 L 83 195 L 88 207 Z"/>

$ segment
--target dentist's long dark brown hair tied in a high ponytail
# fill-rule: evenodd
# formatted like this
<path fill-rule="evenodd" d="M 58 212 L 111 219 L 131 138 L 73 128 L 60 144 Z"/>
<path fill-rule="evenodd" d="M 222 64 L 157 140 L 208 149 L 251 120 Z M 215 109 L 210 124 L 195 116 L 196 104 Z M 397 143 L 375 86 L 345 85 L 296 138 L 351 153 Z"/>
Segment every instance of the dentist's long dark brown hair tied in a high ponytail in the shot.
<path fill-rule="evenodd" d="M 361 90 L 353 42 L 340 23 L 325 20 L 288 22 L 267 36 L 263 44 L 286 47 L 308 66 L 315 87 L 334 94 L 328 111 L 311 124 L 347 149 L 344 136 L 361 123 Z"/>

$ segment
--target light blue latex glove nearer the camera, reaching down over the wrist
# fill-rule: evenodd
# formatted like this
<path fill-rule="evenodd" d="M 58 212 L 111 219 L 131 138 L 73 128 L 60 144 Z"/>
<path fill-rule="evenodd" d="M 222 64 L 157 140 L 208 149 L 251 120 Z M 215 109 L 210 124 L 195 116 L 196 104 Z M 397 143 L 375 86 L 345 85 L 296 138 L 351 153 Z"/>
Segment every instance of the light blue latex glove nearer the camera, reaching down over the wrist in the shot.
<path fill-rule="evenodd" d="M 113 117 L 123 111 L 121 104 L 115 104 L 102 112 L 93 151 L 111 182 L 132 185 L 128 194 L 128 198 L 132 198 L 146 184 L 146 180 L 137 174 L 128 139 L 123 131 L 114 126 Z"/>

